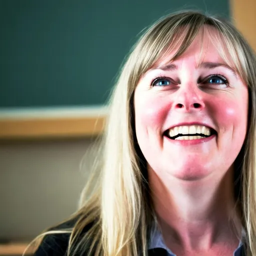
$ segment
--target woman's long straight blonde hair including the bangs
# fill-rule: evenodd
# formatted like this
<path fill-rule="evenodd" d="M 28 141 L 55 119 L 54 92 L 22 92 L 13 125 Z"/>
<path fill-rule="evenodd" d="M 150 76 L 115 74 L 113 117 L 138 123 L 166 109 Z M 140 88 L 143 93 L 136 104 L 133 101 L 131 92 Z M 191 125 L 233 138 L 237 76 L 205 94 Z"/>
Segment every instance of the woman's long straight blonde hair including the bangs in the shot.
<path fill-rule="evenodd" d="M 68 255 L 83 254 L 85 250 L 87 255 L 147 255 L 149 229 L 155 214 L 145 159 L 134 132 L 133 92 L 141 75 L 170 49 L 178 47 L 172 59 L 177 58 L 199 31 L 208 32 L 210 36 L 209 27 L 218 32 L 218 38 L 210 38 L 223 59 L 248 85 L 248 131 L 234 163 L 238 173 L 234 193 L 246 232 L 247 255 L 256 255 L 256 243 L 253 243 L 256 238 L 256 59 L 230 22 L 196 11 L 162 17 L 140 36 L 127 56 L 109 100 L 109 115 L 92 171 L 97 180 L 93 192 L 88 196 L 88 186 L 82 192 L 79 210 L 70 217 L 75 219 L 71 229 L 43 233 L 70 232 Z M 222 42 L 229 50 L 228 56 Z"/>

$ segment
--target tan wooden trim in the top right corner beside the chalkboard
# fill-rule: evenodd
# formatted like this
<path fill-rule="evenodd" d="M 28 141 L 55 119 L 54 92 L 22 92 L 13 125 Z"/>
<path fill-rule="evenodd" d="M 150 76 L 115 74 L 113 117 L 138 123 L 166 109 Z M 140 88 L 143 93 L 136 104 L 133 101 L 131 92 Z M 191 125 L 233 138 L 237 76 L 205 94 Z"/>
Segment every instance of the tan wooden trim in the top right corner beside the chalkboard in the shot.
<path fill-rule="evenodd" d="M 256 51 L 256 0 L 230 0 L 233 22 Z"/>

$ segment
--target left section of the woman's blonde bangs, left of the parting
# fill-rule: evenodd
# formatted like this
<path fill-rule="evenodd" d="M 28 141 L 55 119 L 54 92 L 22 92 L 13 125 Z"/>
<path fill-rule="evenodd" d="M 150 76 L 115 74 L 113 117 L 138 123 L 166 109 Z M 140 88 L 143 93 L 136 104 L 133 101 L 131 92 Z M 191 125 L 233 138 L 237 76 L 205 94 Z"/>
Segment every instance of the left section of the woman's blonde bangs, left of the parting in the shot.
<path fill-rule="evenodd" d="M 129 90 L 133 91 L 139 78 L 150 68 L 165 58 L 170 50 L 177 49 L 169 61 L 178 58 L 186 51 L 204 24 L 203 15 L 160 19 L 140 38 L 130 55 L 133 69 L 130 73 Z"/>

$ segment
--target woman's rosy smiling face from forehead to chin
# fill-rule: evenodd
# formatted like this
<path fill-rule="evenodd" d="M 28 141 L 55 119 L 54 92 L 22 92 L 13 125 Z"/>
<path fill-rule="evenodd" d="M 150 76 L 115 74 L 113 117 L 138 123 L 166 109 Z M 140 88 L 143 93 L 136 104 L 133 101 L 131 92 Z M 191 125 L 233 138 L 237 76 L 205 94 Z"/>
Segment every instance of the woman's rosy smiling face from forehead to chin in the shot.
<path fill-rule="evenodd" d="M 170 62 L 175 50 L 170 52 L 141 77 L 134 92 L 138 144 L 160 176 L 221 176 L 245 138 L 247 85 L 206 33 L 202 49 L 197 36 L 178 59 Z"/>

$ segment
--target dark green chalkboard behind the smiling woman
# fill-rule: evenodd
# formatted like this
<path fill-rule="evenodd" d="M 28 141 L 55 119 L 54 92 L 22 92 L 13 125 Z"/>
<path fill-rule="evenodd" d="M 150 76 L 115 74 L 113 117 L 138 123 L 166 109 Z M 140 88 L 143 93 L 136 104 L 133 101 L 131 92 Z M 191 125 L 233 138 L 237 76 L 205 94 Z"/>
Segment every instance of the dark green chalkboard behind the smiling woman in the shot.
<path fill-rule="evenodd" d="M 0 107 L 103 104 L 136 35 L 182 8 L 228 0 L 0 0 Z"/>

